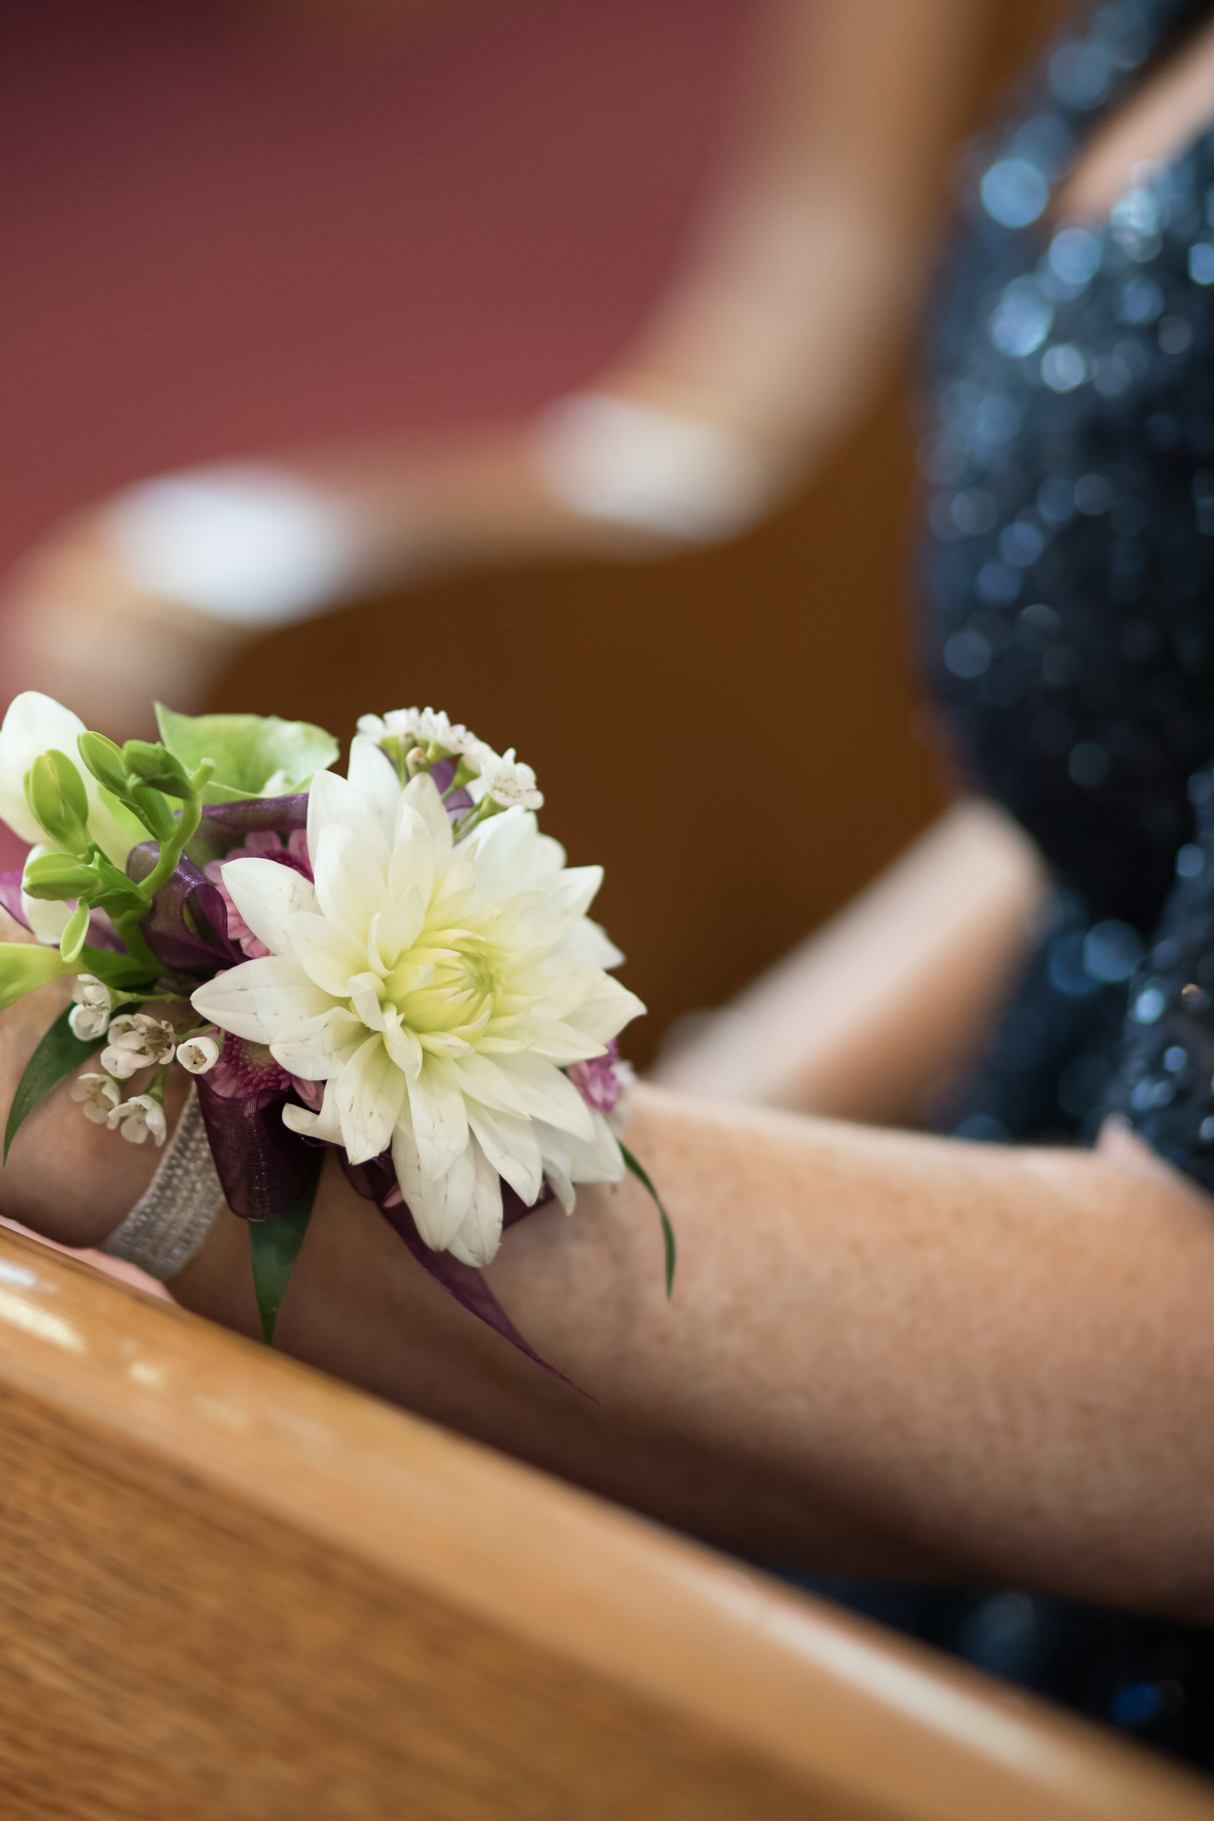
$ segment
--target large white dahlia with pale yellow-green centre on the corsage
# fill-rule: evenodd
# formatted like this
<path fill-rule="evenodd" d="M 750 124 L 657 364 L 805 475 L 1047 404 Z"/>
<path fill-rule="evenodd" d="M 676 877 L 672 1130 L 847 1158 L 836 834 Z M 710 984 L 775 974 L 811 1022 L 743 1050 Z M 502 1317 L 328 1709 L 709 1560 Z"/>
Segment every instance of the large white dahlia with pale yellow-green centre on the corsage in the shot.
<path fill-rule="evenodd" d="M 504 1178 L 530 1206 L 544 1176 L 619 1182 L 606 1120 L 562 1069 L 606 1053 L 644 1007 L 604 972 L 621 956 L 586 918 L 602 872 L 517 807 L 453 845 L 433 779 L 404 788 L 371 738 L 349 779 L 319 772 L 308 799 L 315 887 L 273 860 L 233 860 L 224 885 L 269 954 L 193 994 L 211 1023 L 309 1082 L 295 1131 L 362 1164 L 391 1149 L 433 1249 L 488 1264 Z"/>

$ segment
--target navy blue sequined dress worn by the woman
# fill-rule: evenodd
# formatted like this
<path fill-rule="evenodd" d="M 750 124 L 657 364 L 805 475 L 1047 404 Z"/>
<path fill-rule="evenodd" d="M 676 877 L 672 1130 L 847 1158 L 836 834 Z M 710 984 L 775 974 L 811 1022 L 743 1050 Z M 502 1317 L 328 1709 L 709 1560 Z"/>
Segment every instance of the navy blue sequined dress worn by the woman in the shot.
<path fill-rule="evenodd" d="M 974 153 L 919 461 L 928 690 L 1056 878 L 945 1129 L 1090 1142 L 1121 1111 L 1214 1191 L 1214 129 L 1105 228 L 1050 211 L 1092 124 L 1210 13 L 1088 9 Z M 815 1584 L 1214 1770 L 1210 1632 Z"/>

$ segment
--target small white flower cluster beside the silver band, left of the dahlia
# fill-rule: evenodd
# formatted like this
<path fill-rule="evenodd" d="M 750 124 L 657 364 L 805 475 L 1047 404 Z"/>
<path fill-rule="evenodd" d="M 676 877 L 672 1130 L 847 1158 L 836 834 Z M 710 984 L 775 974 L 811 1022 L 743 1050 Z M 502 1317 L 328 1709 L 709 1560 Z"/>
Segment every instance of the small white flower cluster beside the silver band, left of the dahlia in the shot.
<path fill-rule="evenodd" d="M 153 1018 L 149 1012 L 122 1012 L 115 1018 L 109 987 L 95 974 L 76 974 L 71 996 L 75 1005 L 67 1022 L 73 1036 L 82 1042 L 96 1036 L 109 1040 L 100 1054 L 106 1073 L 76 1076 L 71 1098 L 80 1104 L 86 1120 L 107 1125 L 109 1131 L 120 1129 L 129 1144 L 144 1144 L 151 1134 L 162 1145 L 167 1127 L 160 1102 L 151 1094 L 124 1100 L 118 1083 L 140 1069 L 164 1067 L 173 1060 L 189 1074 L 206 1074 L 218 1062 L 218 1043 L 206 1034 L 178 1043 L 167 1018 Z"/>

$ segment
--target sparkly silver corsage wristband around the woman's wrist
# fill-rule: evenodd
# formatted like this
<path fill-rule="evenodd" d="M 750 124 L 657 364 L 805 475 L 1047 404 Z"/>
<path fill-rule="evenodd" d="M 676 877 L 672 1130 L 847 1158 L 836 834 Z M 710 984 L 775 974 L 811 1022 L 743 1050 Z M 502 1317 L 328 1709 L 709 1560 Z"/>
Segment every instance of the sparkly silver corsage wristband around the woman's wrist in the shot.
<path fill-rule="evenodd" d="M 222 1206 L 224 1191 L 211 1160 L 198 1094 L 191 1085 L 157 1175 L 122 1226 L 98 1249 L 138 1266 L 164 1284 L 186 1269 Z"/>

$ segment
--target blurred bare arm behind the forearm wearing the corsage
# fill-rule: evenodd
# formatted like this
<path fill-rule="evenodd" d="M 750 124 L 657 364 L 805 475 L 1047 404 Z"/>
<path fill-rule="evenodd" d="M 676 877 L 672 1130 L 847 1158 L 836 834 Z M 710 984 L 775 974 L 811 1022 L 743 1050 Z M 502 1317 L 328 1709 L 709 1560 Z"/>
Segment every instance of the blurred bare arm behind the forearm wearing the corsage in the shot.
<path fill-rule="evenodd" d="M 706 1100 L 914 1122 L 1021 965 L 1045 872 L 994 803 L 950 809 L 653 1078 Z"/>

